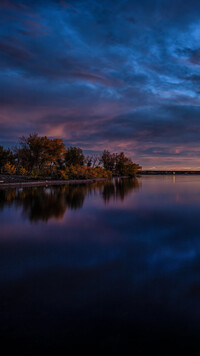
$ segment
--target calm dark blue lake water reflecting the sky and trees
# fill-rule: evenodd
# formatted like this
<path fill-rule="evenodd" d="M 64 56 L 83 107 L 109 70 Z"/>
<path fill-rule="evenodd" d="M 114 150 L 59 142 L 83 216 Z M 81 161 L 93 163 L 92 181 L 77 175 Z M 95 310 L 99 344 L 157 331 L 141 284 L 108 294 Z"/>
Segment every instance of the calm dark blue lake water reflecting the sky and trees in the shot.
<path fill-rule="evenodd" d="M 0 190 L 0 224 L 7 350 L 200 354 L 200 177 Z"/>

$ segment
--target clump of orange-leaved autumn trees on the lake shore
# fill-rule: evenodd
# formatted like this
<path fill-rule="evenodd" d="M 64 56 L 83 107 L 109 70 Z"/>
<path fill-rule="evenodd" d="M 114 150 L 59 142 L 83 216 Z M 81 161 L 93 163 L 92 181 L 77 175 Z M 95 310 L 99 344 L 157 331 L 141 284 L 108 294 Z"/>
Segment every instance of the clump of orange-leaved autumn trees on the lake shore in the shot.
<path fill-rule="evenodd" d="M 0 171 L 9 175 L 52 177 L 56 179 L 134 177 L 141 170 L 121 153 L 104 150 L 100 155 L 84 156 L 79 147 L 66 148 L 62 139 L 38 134 L 21 137 L 13 150 L 0 146 Z"/>

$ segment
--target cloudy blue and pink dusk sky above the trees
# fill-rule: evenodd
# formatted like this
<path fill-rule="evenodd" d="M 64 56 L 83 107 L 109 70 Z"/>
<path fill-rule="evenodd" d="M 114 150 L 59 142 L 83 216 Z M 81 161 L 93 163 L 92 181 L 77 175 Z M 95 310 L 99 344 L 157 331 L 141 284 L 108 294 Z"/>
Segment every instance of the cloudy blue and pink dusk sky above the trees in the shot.
<path fill-rule="evenodd" d="M 0 0 L 0 144 L 200 169 L 199 0 Z"/>

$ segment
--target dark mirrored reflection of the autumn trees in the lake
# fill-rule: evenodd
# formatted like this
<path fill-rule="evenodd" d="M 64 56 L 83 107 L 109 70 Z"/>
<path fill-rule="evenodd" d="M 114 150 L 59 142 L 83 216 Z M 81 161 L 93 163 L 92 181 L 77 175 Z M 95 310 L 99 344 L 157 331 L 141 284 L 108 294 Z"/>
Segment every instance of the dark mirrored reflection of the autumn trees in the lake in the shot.
<path fill-rule="evenodd" d="M 140 185 L 136 178 L 118 178 L 92 184 L 0 189 L 0 210 L 14 204 L 30 221 L 47 222 L 51 218 L 62 219 L 67 208 L 80 209 L 87 195 L 101 194 L 108 204 L 111 199 L 123 201 Z"/>

